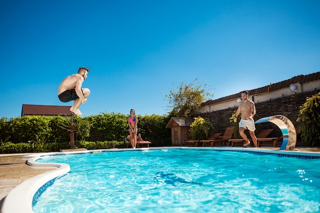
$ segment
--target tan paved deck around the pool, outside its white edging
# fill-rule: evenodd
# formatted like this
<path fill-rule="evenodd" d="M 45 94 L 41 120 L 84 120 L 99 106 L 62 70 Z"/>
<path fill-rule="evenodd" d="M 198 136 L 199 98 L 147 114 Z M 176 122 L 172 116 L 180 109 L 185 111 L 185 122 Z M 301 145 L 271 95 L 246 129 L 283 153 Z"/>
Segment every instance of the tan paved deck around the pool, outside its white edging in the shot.
<path fill-rule="evenodd" d="M 256 149 L 279 150 L 279 147 L 263 147 Z M 320 153 L 320 148 L 296 147 L 293 151 Z M 0 209 L 6 196 L 14 187 L 29 178 L 56 169 L 53 167 L 30 167 L 26 164 L 27 160 L 22 159 L 21 157 L 31 154 L 37 153 L 0 154 Z"/>

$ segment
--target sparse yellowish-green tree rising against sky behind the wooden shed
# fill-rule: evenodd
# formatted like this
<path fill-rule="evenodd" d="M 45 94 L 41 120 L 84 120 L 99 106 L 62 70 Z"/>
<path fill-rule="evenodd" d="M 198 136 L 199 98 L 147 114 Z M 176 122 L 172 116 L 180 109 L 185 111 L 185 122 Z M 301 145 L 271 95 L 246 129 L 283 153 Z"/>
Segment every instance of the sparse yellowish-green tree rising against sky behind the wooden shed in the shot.
<path fill-rule="evenodd" d="M 174 88 L 174 83 L 172 83 L 172 89 L 166 95 L 169 101 L 168 108 L 172 109 L 171 116 L 189 117 L 192 111 L 200 108 L 201 103 L 214 96 L 208 92 L 212 89 L 212 85 L 203 84 L 197 80 L 189 84 L 182 82 L 177 88 Z"/>

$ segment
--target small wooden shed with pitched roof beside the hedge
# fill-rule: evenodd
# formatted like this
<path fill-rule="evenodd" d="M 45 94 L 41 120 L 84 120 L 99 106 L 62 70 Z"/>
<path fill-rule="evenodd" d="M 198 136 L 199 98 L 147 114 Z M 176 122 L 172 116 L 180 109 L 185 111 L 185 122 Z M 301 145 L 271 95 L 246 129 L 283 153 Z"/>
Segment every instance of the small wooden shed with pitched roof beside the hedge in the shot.
<path fill-rule="evenodd" d="M 172 146 L 184 146 L 190 139 L 190 125 L 193 119 L 188 117 L 171 117 L 166 128 L 171 129 Z"/>

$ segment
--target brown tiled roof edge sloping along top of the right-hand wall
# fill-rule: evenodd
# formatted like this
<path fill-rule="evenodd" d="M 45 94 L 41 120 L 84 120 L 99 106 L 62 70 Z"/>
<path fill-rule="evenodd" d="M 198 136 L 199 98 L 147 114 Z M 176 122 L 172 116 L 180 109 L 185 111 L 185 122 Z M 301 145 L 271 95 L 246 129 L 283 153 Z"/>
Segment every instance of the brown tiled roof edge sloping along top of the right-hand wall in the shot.
<path fill-rule="evenodd" d="M 317 73 L 312 73 L 309 75 L 300 75 L 300 76 L 295 76 L 293 78 L 290 78 L 288 80 L 285 81 L 281 81 L 278 83 L 274 83 L 274 84 L 270 84 L 267 86 L 263 86 L 257 89 L 252 89 L 252 90 L 248 90 L 249 95 L 250 96 L 255 96 L 257 94 L 261 94 L 261 93 L 265 93 L 265 92 L 269 92 L 269 91 L 274 91 L 274 90 L 278 90 L 278 89 L 282 89 L 282 88 L 286 88 L 289 87 L 291 84 L 294 83 L 306 83 L 306 82 L 310 82 L 310 81 L 316 81 L 320 79 L 320 72 Z M 230 96 L 226 96 L 226 97 L 222 97 L 219 99 L 215 99 L 215 100 L 209 100 L 207 102 L 203 102 L 201 104 L 202 106 L 208 106 L 208 105 L 212 105 L 212 104 L 217 104 L 217 103 L 221 103 L 221 102 L 225 102 L 225 101 L 229 101 L 229 100 L 234 100 L 234 99 L 238 99 L 241 96 L 240 92 L 236 93 L 236 94 L 231 94 Z"/>

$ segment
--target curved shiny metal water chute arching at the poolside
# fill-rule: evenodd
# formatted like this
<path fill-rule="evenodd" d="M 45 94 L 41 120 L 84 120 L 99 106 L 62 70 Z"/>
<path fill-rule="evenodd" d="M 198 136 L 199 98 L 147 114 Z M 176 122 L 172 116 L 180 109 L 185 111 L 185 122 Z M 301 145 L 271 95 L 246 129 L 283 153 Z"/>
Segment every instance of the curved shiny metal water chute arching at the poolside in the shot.
<path fill-rule="evenodd" d="M 292 122 L 286 116 L 273 115 L 270 117 L 263 117 L 256 121 L 255 124 L 264 122 L 271 122 L 280 128 L 283 135 L 283 141 L 279 150 L 290 151 L 294 149 L 296 143 L 296 132 Z"/>

